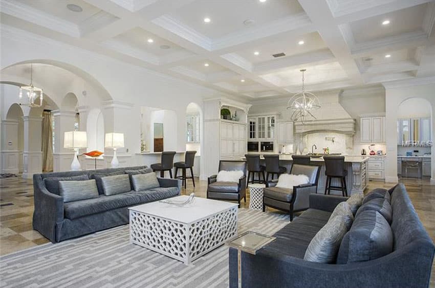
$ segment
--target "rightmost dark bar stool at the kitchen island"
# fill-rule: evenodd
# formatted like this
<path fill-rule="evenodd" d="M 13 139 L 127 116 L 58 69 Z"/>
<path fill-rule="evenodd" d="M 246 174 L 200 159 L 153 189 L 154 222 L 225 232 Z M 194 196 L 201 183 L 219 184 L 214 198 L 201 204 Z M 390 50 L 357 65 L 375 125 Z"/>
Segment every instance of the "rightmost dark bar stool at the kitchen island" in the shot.
<path fill-rule="evenodd" d="M 347 197 L 346 176 L 347 170 L 344 169 L 344 156 L 324 156 L 325 175 L 325 194 L 331 194 L 331 190 L 341 190 L 343 196 Z M 333 178 L 340 179 L 340 186 L 331 186 Z"/>

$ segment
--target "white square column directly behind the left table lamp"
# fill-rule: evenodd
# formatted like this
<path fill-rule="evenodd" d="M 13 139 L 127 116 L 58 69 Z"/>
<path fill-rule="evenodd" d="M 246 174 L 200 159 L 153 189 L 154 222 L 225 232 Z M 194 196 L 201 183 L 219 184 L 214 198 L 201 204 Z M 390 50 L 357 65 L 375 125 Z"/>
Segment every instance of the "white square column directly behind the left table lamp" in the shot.
<path fill-rule="evenodd" d="M 53 171 L 69 171 L 73 161 L 74 151 L 63 148 L 63 134 L 66 131 L 74 130 L 76 112 L 67 110 L 54 110 L 54 151 Z"/>

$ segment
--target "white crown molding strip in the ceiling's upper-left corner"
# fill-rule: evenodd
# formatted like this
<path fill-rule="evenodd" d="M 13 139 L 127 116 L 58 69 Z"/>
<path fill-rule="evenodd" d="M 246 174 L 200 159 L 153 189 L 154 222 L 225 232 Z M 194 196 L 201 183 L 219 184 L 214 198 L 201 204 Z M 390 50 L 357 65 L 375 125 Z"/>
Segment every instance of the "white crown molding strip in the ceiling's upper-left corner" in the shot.
<path fill-rule="evenodd" d="M 17 1 L 2 0 L 0 10 L 2 13 L 50 30 L 55 30 L 72 37 L 80 36 L 80 30 L 77 25 Z"/>

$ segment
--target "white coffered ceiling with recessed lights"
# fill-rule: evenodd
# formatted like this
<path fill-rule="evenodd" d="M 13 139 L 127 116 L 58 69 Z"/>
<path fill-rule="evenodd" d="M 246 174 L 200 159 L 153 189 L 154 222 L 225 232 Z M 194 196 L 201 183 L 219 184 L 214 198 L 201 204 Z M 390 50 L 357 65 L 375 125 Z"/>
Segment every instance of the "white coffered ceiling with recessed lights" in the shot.
<path fill-rule="evenodd" d="M 300 69 L 313 91 L 435 76 L 429 0 L 2 0 L 0 11 L 3 25 L 248 100 L 297 92 Z"/>

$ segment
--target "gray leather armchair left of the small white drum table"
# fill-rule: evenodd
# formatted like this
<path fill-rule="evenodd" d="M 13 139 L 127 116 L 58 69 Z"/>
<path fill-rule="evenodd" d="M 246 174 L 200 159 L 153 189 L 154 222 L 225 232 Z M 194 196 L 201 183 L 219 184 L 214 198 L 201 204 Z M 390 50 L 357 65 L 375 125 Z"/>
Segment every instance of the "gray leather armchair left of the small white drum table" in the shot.
<path fill-rule="evenodd" d="M 207 198 L 214 200 L 237 201 L 240 208 L 240 201 L 244 198 L 246 203 L 246 162 L 245 161 L 219 161 L 219 171 L 242 170 L 243 176 L 238 183 L 217 182 L 217 175 L 208 178 Z"/>

